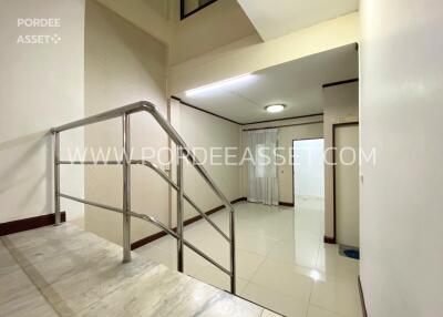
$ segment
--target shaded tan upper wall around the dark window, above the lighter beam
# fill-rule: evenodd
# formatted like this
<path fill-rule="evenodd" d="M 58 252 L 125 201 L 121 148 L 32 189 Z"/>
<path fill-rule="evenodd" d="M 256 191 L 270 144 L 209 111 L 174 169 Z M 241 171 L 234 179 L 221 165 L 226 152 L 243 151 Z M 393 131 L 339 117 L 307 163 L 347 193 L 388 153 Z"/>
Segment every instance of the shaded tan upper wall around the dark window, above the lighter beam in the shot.
<path fill-rule="evenodd" d="M 217 1 L 184 20 L 181 20 L 178 0 L 97 1 L 167 44 L 169 64 L 185 62 L 257 34 L 236 0 Z"/>

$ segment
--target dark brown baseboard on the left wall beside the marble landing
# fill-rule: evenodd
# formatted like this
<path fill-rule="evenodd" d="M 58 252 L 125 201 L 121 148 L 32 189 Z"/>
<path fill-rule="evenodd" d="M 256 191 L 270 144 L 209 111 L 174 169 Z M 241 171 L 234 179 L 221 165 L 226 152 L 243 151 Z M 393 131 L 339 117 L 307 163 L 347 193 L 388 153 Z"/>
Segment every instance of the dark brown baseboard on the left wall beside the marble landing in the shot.
<path fill-rule="evenodd" d="M 66 214 L 61 213 L 62 222 L 66 221 Z M 0 236 L 10 235 L 14 233 L 37 229 L 44 226 L 50 226 L 55 223 L 54 214 L 41 215 L 31 218 L 24 218 L 8 223 L 0 224 Z"/>

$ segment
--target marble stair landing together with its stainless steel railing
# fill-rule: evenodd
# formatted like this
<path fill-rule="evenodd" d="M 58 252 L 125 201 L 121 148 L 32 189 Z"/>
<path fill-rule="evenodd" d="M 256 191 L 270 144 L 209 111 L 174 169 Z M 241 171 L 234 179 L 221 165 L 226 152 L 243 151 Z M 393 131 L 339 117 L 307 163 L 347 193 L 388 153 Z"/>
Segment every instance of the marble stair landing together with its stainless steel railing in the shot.
<path fill-rule="evenodd" d="M 177 180 L 151 162 L 132 160 L 130 117 L 152 115 L 177 147 Z M 63 131 L 122 117 L 122 161 L 85 162 L 60 160 Z M 235 296 L 235 209 L 174 127 L 146 101 L 81 119 L 51 130 L 53 135 L 55 226 L 1 237 L 0 316 L 272 316 L 255 304 Z M 220 229 L 184 193 L 184 160 L 188 160 L 229 213 L 229 233 Z M 111 206 L 60 191 L 63 164 L 122 165 L 123 206 Z M 131 208 L 131 165 L 141 164 L 157 173 L 177 192 L 177 229 Z M 71 200 L 122 215 L 123 247 L 74 225 L 61 223 L 61 200 Z M 184 202 L 187 202 L 229 244 L 229 268 L 224 267 L 184 237 Z M 69 214 L 69 211 L 68 211 Z M 131 219 L 146 221 L 177 241 L 177 270 L 131 252 Z M 230 293 L 183 274 L 184 246 L 202 256 L 230 278 Z M 123 263 L 123 264 L 122 264 Z"/>

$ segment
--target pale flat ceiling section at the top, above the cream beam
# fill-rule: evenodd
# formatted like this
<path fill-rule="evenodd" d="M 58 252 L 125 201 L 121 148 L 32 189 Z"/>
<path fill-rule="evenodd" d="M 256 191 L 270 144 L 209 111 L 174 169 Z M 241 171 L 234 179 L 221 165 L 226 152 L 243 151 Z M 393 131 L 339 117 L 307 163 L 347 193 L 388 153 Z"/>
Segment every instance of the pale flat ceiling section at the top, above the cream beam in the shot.
<path fill-rule="evenodd" d="M 359 10 L 359 0 L 238 0 L 267 41 Z"/>

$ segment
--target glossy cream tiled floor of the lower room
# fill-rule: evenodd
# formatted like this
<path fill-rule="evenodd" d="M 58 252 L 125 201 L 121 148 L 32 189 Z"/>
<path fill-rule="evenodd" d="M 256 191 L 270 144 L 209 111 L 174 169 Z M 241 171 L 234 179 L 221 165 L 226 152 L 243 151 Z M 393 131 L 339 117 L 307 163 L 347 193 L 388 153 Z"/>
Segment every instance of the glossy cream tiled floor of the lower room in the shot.
<path fill-rule="evenodd" d="M 227 213 L 218 212 L 212 218 L 227 232 Z M 287 316 L 361 316 L 358 262 L 322 243 L 323 201 L 299 201 L 296 209 L 240 203 L 236 205 L 236 225 L 239 296 Z M 228 244 L 205 222 L 187 226 L 185 237 L 228 267 Z M 173 238 L 136 252 L 176 267 Z M 229 289 L 228 277 L 189 249 L 185 252 L 185 273 Z"/>

